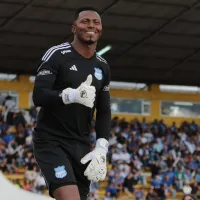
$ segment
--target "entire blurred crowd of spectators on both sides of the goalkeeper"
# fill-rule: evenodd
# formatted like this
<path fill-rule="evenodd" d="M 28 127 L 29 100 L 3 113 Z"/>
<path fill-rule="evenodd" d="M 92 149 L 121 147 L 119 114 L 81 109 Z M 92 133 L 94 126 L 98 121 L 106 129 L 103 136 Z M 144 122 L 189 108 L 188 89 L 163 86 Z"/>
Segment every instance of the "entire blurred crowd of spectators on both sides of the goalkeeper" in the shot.
<path fill-rule="evenodd" d="M 0 170 L 19 174 L 24 168 L 23 184 L 13 180 L 16 187 L 43 193 L 46 189 L 32 151 L 32 133 L 37 123 L 37 109 L 16 109 L 7 98 L 0 107 Z M 92 123 L 91 148 L 96 133 Z M 136 200 L 176 198 L 177 192 L 200 192 L 200 129 L 194 121 L 174 122 L 167 126 L 163 120 L 151 123 L 137 119 L 112 119 L 109 137 L 107 174 L 104 200 L 117 199 L 122 193 Z M 101 183 L 100 183 L 101 184 Z M 136 187 L 137 185 L 137 187 Z M 138 187 L 139 186 L 139 187 Z M 89 200 L 99 199 L 100 185 L 91 184 Z"/>

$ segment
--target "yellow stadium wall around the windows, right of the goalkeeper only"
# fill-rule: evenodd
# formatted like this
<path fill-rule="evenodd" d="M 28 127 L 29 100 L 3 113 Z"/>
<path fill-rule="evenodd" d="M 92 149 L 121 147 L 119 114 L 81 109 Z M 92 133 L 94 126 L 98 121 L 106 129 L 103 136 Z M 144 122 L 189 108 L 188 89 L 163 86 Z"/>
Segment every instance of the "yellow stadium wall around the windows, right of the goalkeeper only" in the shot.
<path fill-rule="evenodd" d="M 163 119 L 166 124 L 171 125 L 174 121 L 177 125 L 180 125 L 184 120 L 192 122 L 193 120 L 200 124 L 200 118 L 188 118 L 188 117 L 168 117 L 161 116 L 160 101 L 187 101 L 187 102 L 200 102 L 200 94 L 185 94 L 185 93 L 170 93 L 161 92 L 159 85 L 152 84 L 148 91 L 137 90 L 111 90 L 111 96 L 122 98 L 134 98 L 134 99 L 147 99 L 151 101 L 151 115 L 146 116 L 147 121 L 153 121 L 154 119 Z M 113 116 L 125 117 L 128 121 L 134 118 L 142 120 L 144 115 L 132 115 L 132 114 L 115 114 Z"/>

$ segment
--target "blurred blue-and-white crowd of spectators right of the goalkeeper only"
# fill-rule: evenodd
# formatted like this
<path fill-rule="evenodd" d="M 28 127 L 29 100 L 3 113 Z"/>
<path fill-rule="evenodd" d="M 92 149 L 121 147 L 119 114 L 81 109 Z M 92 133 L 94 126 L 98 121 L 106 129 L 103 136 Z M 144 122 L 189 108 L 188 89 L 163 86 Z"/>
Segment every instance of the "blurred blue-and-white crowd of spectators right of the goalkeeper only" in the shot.
<path fill-rule="evenodd" d="M 163 120 L 127 122 L 115 117 L 109 144 L 112 168 L 104 200 L 122 192 L 136 200 L 176 198 L 178 192 L 200 194 L 200 129 L 195 121 L 168 127 Z"/>

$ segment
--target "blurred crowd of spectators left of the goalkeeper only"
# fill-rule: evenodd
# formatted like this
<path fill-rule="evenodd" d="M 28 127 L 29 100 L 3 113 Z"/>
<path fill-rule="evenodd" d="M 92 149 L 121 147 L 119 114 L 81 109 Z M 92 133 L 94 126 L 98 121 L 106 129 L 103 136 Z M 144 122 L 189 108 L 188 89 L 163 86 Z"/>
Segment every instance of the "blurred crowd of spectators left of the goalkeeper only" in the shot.
<path fill-rule="evenodd" d="M 24 180 L 13 179 L 16 187 L 44 193 L 46 183 L 33 155 L 32 133 L 37 109 L 17 109 L 11 97 L 0 106 L 0 170 L 5 174 L 20 174 Z"/>

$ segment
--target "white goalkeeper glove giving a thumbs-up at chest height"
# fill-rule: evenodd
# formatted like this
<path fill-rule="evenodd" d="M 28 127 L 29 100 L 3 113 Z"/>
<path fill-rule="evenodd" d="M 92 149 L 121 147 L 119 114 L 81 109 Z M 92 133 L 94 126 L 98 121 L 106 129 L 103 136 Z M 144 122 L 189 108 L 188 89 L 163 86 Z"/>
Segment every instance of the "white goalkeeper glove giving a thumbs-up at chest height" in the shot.
<path fill-rule="evenodd" d="M 87 80 L 77 88 L 67 88 L 62 91 L 62 100 L 64 104 L 79 103 L 92 108 L 95 101 L 96 89 L 91 86 L 92 75 L 88 75 Z"/>

